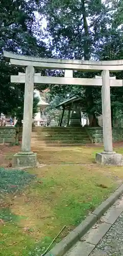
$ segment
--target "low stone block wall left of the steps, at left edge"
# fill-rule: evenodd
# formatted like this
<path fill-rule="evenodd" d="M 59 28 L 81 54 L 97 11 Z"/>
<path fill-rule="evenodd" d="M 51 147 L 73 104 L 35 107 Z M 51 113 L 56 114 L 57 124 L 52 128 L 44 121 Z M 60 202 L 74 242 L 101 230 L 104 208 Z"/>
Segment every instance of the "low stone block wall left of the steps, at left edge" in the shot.
<path fill-rule="evenodd" d="M 0 126 L 0 143 L 16 142 L 16 127 Z"/>

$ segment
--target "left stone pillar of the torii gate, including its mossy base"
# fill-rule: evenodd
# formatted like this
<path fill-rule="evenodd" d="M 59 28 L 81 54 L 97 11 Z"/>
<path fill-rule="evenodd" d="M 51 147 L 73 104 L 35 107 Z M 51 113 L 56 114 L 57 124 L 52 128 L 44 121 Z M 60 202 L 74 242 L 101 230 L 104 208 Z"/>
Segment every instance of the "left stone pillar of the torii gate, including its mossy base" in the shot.
<path fill-rule="evenodd" d="M 22 147 L 13 157 L 13 166 L 32 167 L 37 165 L 37 154 L 31 152 L 31 133 L 32 133 L 32 117 L 33 117 L 33 92 L 34 92 L 34 75 L 33 66 L 26 67 L 26 74 L 19 73 L 25 77 L 24 89 L 24 111 L 23 111 L 23 127 L 22 127 Z M 36 74 L 36 75 L 40 75 Z"/>

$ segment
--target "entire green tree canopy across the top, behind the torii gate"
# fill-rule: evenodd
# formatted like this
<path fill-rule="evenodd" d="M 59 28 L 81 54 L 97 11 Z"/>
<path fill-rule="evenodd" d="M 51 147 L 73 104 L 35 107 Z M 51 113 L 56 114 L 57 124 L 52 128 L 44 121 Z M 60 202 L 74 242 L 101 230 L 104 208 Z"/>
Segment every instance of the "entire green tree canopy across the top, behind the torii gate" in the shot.
<path fill-rule="evenodd" d="M 40 57 L 85 60 L 123 59 L 123 15 L 121 0 L 8 0 L 0 3 L 0 47 L 15 53 Z M 45 28 L 42 27 L 42 19 Z M 24 72 L 21 68 L 19 72 Z M 39 72 L 39 70 L 37 70 Z M 63 76 L 60 71 L 43 71 L 43 74 Z M 22 85 L 10 84 L 10 75 L 18 68 L 0 61 L 0 110 L 8 113 L 16 109 Z M 122 72 L 116 78 L 122 79 Z M 101 73 L 74 72 L 74 77 L 91 78 Z M 102 113 L 101 88 L 80 86 L 36 85 L 40 91 L 48 87 L 48 97 L 66 94 L 82 97 L 83 113 L 90 125 L 97 125 L 96 117 Z M 55 96 L 56 95 L 56 96 Z M 122 88 L 111 88 L 112 118 L 122 113 Z M 12 100 L 13 99 L 13 100 Z M 53 102 L 52 102 L 53 103 Z"/>

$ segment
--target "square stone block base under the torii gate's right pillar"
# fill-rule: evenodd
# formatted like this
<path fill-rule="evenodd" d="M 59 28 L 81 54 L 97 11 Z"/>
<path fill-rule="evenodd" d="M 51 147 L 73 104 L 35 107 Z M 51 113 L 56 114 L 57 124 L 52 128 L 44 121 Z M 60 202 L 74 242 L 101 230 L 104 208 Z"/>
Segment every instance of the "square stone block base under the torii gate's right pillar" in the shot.
<path fill-rule="evenodd" d="M 123 158 L 121 154 L 117 154 L 115 152 L 102 152 L 96 153 L 95 162 L 102 165 L 122 166 Z"/>

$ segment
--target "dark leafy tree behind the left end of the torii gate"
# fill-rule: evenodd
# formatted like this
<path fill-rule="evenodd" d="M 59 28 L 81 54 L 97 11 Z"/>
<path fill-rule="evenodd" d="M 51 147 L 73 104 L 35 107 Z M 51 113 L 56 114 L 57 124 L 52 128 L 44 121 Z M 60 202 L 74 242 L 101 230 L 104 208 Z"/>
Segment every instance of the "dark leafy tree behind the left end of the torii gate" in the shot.
<path fill-rule="evenodd" d="M 13 53 L 46 56 L 48 49 L 42 40 L 39 21 L 35 16 L 37 0 L 5 0 L 0 3 L 0 48 Z M 24 72 L 0 60 L 0 113 L 12 112 L 21 105 L 24 84 L 10 83 L 10 75 Z"/>

